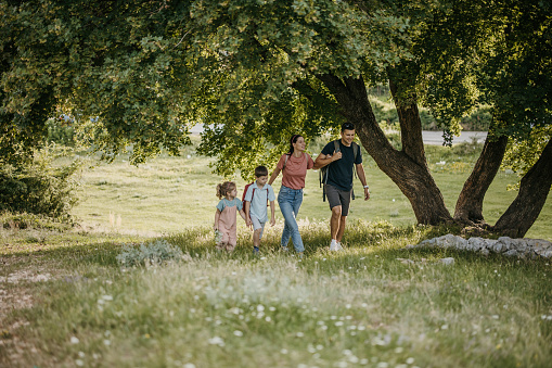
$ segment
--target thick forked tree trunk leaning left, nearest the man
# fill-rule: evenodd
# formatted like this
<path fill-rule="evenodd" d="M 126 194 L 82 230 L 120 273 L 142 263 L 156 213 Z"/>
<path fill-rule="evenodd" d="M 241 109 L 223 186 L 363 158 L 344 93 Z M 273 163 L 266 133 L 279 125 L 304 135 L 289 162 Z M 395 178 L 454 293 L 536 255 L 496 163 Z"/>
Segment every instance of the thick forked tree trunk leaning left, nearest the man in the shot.
<path fill-rule="evenodd" d="M 337 100 L 341 113 L 355 124 L 362 145 L 377 166 L 409 199 L 418 223 L 437 225 L 452 219 L 425 162 L 422 128 L 415 103 L 401 107 L 401 127 L 408 127 L 408 132 L 403 135 L 403 150 L 399 152 L 391 147 L 377 125 L 362 78 L 342 80 L 328 74 L 319 75 L 318 78 Z"/>

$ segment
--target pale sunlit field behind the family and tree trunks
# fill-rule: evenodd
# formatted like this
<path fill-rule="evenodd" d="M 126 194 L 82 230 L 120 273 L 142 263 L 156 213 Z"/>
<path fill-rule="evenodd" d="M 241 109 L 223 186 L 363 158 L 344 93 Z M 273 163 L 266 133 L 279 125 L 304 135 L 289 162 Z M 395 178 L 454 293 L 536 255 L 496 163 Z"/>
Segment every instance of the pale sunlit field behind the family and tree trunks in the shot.
<path fill-rule="evenodd" d="M 318 147 L 311 145 L 311 150 L 316 153 Z M 426 150 L 432 173 L 452 212 L 475 155 L 453 156 L 453 151 L 442 147 L 427 147 Z M 215 188 L 223 178 L 211 174 L 209 162 L 210 158 L 197 156 L 193 148 L 188 148 L 180 157 L 161 156 L 139 167 L 121 158 L 112 164 L 99 164 L 84 173 L 81 202 L 73 214 L 87 227 L 113 228 L 128 233 L 175 233 L 192 227 L 210 227 L 218 203 Z M 349 219 L 414 225 L 414 213 L 407 198 L 365 153 L 364 167 L 372 198 L 368 202 L 352 201 Z M 308 172 L 299 219 L 329 219 L 330 210 L 328 203 L 322 202 L 318 175 L 316 170 Z M 281 176 L 273 186 L 277 192 L 280 179 Z M 245 182 L 239 175 L 233 180 L 241 196 Z M 506 186 L 516 180 L 515 174 L 499 173 L 484 204 L 488 223 L 493 224 L 515 198 L 516 192 L 506 191 Z M 357 193 L 362 192 L 360 181 L 356 180 L 355 188 Z M 277 203 L 277 221 L 282 220 Z M 244 227 L 241 221 L 239 226 Z M 550 196 L 527 237 L 552 240 Z"/>

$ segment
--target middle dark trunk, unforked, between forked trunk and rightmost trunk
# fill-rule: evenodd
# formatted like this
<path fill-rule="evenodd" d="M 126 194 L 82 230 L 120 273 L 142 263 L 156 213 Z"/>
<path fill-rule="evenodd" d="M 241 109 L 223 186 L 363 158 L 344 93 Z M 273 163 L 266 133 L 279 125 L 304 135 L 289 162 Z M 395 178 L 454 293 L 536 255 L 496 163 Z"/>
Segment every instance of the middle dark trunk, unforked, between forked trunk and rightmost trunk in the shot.
<path fill-rule="evenodd" d="M 454 219 L 462 221 L 483 223 L 483 200 L 504 157 L 508 136 L 500 138 L 490 134 L 485 140 L 482 154 L 464 183 L 454 210 Z"/>

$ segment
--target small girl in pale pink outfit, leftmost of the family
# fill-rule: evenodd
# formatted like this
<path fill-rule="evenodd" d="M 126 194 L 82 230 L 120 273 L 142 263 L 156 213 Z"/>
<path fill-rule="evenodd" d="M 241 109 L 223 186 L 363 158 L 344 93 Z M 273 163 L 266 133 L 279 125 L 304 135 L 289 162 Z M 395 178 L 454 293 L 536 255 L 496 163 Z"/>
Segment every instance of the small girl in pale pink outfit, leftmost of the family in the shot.
<path fill-rule="evenodd" d="M 224 181 L 217 186 L 217 196 L 220 202 L 215 213 L 215 232 L 217 237 L 217 249 L 232 252 L 238 240 L 236 236 L 236 213 L 245 220 L 243 203 L 238 198 L 235 182 Z"/>

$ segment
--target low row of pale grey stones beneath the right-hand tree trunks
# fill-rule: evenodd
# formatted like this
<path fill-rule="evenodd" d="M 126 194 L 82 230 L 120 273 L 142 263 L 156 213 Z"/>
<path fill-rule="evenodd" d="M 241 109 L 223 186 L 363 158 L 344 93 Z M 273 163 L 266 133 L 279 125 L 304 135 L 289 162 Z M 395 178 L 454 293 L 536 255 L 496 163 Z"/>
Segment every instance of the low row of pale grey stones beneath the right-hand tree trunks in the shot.
<path fill-rule="evenodd" d="M 478 237 L 464 239 L 448 233 L 439 238 L 424 240 L 416 245 L 407 245 L 407 249 L 413 248 L 455 249 L 479 252 L 483 255 L 500 253 L 519 258 L 552 257 L 552 242 L 542 239 L 512 239 L 509 237 L 499 239 L 484 239 Z"/>

